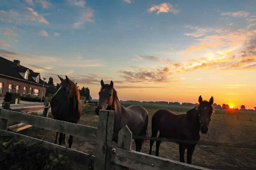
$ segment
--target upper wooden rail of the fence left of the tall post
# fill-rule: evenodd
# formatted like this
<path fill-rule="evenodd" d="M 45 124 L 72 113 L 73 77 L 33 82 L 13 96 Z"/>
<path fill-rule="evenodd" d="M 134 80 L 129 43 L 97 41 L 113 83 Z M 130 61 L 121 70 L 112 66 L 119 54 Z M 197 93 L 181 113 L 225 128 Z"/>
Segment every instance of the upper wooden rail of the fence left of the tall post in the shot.
<path fill-rule="evenodd" d="M 84 137 L 85 141 L 95 141 L 97 128 L 81 124 L 68 123 L 51 118 L 38 117 L 36 115 L 23 114 L 12 110 L 2 109 L 0 118 L 18 121 L 24 124 L 41 127 L 55 132 L 62 132 L 77 137 Z"/>

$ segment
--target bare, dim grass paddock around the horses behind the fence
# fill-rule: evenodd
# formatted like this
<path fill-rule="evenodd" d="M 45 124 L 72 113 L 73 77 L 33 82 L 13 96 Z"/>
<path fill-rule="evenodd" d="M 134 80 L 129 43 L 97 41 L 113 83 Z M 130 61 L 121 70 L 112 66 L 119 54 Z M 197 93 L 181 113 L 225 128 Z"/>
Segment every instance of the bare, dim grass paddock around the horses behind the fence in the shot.
<path fill-rule="evenodd" d="M 128 104 L 124 104 L 124 106 L 128 106 Z M 96 106 L 84 104 L 82 107 L 83 114 L 79 124 L 96 127 L 98 123 L 98 116 L 94 114 Z M 184 114 L 187 110 L 191 109 L 189 107 L 152 106 L 148 104 L 145 104 L 144 107 L 149 113 L 149 136 L 151 136 L 151 117 L 158 109 L 170 109 L 174 114 L 177 114 L 177 110 L 179 110 L 179 114 Z M 225 120 L 223 119 L 223 114 L 225 114 Z M 237 116 L 239 116 L 239 120 L 237 120 Z M 52 117 L 52 115 L 49 114 L 49 117 Z M 251 117 L 252 121 L 250 121 Z M 216 111 L 216 113 L 213 114 L 208 131 L 209 135 L 201 134 L 201 140 L 255 145 L 255 129 L 256 113 L 236 112 L 231 114 L 230 112 L 218 110 L 218 112 Z M 50 142 L 54 142 L 55 138 L 55 132 L 40 129 L 38 127 L 30 127 L 20 133 Z M 88 154 L 94 154 L 94 145 L 94 142 L 85 142 L 83 138 L 74 137 L 73 149 L 87 152 Z M 113 143 L 113 147 L 116 147 L 115 143 Z M 134 143 L 132 149 L 135 150 Z M 143 144 L 142 152 L 148 154 L 149 141 L 146 141 Z M 153 154 L 155 154 L 155 143 L 153 146 Z M 178 144 L 162 142 L 160 146 L 160 157 L 179 161 Z M 212 168 L 212 166 L 219 166 L 219 169 L 224 169 L 222 166 L 229 166 L 230 169 L 233 169 L 232 167 L 256 169 L 256 151 L 255 149 L 198 145 L 194 151 L 192 163 L 193 165 L 208 166 L 210 168 Z"/>

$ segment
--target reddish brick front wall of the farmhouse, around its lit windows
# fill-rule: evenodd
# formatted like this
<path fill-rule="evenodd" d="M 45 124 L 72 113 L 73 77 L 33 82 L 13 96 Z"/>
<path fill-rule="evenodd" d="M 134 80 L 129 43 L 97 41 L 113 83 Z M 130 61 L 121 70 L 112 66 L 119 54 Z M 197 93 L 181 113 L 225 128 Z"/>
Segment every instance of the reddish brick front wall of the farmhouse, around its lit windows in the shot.
<path fill-rule="evenodd" d="M 30 83 L 28 81 L 22 81 L 22 80 L 16 80 L 15 78 L 9 78 L 9 77 L 3 77 L 0 75 L 0 83 L 4 83 L 4 89 L 2 90 L 2 93 L 0 94 L 0 98 L 4 97 L 6 92 L 9 92 L 9 84 L 12 84 L 12 92 L 16 93 L 16 86 L 20 86 L 19 94 L 23 95 L 24 93 L 24 87 L 27 87 L 26 89 L 26 95 L 29 94 L 29 89 L 32 87 L 32 89 L 38 89 L 39 95 L 38 97 L 42 97 L 43 95 L 43 86 L 37 85 L 35 83 Z M 46 93 L 46 87 L 44 86 L 44 97 Z M 31 93 L 31 95 L 34 95 L 34 92 Z"/>

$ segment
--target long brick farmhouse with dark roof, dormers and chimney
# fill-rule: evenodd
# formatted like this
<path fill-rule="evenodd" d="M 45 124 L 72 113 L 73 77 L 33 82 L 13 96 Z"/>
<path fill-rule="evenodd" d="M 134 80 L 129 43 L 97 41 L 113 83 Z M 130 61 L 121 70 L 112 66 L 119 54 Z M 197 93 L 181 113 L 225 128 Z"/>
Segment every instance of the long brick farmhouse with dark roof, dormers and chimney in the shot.
<path fill-rule="evenodd" d="M 21 66 L 19 60 L 12 62 L 0 56 L 0 99 L 6 92 L 45 97 L 46 86 L 40 73 Z"/>

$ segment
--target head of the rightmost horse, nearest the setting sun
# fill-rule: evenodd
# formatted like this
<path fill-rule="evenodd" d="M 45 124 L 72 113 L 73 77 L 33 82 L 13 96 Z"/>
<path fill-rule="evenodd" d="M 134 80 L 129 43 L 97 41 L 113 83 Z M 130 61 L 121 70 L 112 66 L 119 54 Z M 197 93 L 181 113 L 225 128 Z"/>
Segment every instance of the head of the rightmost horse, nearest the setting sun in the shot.
<path fill-rule="evenodd" d="M 203 101 L 202 97 L 200 96 L 198 101 L 199 104 L 195 107 L 195 109 L 189 110 L 187 112 L 187 118 L 190 120 L 193 116 L 194 118 L 197 118 L 200 123 L 200 131 L 202 132 L 202 134 L 207 134 L 208 126 L 214 112 L 214 109 L 212 107 L 213 97 L 211 97 L 209 101 Z"/>

